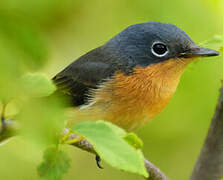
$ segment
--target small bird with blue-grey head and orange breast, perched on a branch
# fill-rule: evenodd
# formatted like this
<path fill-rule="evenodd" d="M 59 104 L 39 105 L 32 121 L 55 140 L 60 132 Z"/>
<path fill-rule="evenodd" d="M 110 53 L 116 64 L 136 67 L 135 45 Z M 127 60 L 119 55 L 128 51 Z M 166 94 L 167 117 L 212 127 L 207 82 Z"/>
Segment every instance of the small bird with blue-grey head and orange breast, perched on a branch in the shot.
<path fill-rule="evenodd" d="M 86 120 L 105 120 L 127 131 L 151 121 L 168 104 L 180 77 L 198 57 L 217 56 L 172 24 L 129 26 L 58 73 L 57 93 Z"/>

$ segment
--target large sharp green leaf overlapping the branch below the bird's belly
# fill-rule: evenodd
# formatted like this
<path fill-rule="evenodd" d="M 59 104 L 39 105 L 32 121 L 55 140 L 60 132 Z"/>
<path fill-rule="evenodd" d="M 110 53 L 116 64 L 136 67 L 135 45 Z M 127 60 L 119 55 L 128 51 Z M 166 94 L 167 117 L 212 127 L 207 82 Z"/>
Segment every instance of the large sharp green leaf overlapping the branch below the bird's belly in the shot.
<path fill-rule="evenodd" d="M 124 134 L 124 130 L 103 121 L 82 122 L 75 125 L 72 130 L 85 137 L 99 156 L 111 166 L 148 177 L 142 152 L 120 136 Z"/>

